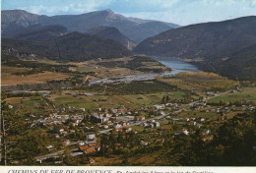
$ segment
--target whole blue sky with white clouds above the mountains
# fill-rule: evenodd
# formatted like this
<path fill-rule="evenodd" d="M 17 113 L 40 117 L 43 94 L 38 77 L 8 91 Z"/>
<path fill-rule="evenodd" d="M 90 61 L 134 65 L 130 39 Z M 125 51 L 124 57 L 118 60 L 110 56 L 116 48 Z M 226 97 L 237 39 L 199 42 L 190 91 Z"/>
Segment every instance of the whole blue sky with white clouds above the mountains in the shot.
<path fill-rule="evenodd" d="M 2 0 L 1 8 L 47 16 L 111 9 L 126 17 L 180 26 L 256 16 L 256 0 Z"/>

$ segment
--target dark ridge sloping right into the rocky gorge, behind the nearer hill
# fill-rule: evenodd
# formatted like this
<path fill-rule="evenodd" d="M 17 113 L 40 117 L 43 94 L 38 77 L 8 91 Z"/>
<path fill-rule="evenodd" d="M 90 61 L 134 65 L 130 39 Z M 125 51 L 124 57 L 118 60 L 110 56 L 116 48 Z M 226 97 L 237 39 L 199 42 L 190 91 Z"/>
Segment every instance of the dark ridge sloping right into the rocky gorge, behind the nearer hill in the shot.
<path fill-rule="evenodd" d="M 84 33 L 95 34 L 99 37 L 116 40 L 130 50 L 132 50 L 136 46 L 136 43 L 134 41 L 127 38 L 118 29 L 115 28 L 98 26 L 96 28 L 86 30 L 84 31 Z"/>

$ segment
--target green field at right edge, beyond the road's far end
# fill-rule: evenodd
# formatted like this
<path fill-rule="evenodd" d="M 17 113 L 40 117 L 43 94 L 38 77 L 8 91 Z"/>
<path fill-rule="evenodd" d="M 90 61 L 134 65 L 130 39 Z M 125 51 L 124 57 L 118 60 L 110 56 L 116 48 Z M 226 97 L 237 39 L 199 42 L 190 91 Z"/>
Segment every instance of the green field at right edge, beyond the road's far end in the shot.
<path fill-rule="evenodd" d="M 221 100 L 225 102 L 235 101 L 254 101 L 256 102 L 256 87 L 244 87 L 241 88 L 241 92 L 228 93 L 222 96 L 214 97 L 209 99 L 208 102 L 215 103 Z"/>

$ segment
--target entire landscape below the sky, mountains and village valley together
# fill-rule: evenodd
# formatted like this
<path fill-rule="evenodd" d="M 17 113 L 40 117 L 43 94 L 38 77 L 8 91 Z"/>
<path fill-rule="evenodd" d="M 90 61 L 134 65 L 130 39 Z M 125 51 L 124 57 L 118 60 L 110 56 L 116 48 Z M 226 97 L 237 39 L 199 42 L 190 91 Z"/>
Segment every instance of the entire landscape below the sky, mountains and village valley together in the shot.
<path fill-rule="evenodd" d="M 255 166 L 255 17 L 7 10 L 1 29 L 1 163 Z"/>

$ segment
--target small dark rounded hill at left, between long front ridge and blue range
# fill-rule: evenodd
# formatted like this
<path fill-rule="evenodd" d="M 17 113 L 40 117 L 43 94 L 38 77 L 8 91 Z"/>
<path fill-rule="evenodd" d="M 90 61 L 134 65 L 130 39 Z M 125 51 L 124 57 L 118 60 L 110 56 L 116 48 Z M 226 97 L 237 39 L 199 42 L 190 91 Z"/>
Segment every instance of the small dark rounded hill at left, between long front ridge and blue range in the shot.
<path fill-rule="evenodd" d="M 8 36 L 8 38 L 21 39 L 27 41 L 38 41 L 54 38 L 67 34 L 68 30 L 60 25 L 41 26 L 34 25 L 26 29 L 17 31 L 15 34 Z"/>

